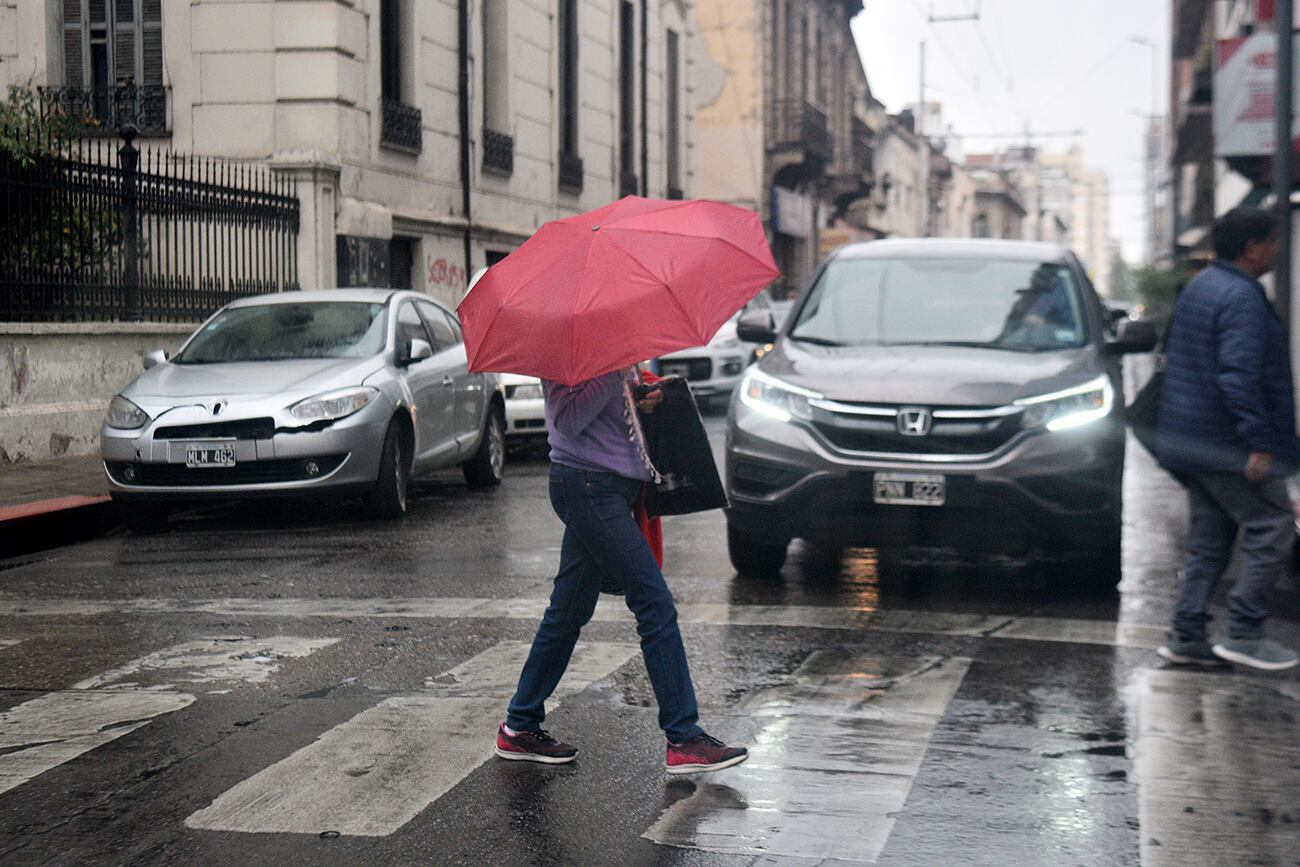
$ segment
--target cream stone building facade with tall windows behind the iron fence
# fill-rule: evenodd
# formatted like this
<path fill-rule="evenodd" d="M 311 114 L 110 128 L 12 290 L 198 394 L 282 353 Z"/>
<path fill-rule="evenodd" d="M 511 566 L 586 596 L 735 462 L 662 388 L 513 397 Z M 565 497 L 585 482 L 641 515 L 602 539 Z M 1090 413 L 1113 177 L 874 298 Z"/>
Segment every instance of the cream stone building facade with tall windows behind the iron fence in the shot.
<path fill-rule="evenodd" d="M 299 181 L 304 289 L 446 302 L 542 222 L 692 192 L 690 0 L 0 0 L 0 84 L 156 88 Z"/>

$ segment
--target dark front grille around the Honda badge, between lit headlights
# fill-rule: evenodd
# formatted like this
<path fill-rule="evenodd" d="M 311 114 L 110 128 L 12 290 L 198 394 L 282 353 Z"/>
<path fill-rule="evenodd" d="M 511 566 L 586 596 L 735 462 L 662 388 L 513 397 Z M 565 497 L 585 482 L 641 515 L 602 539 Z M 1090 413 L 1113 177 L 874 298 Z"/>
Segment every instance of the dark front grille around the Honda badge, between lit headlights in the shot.
<path fill-rule="evenodd" d="M 924 437 L 898 433 L 898 422 L 892 415 L 859 416 L 820 407 L 812 411 L 812 426 L 831 445 L 845 451 L 974 456 L 997 451 L 1020 432 L 1020 413 L 988 412 L 987 416 L 968 419 L 937 417 Z"/>

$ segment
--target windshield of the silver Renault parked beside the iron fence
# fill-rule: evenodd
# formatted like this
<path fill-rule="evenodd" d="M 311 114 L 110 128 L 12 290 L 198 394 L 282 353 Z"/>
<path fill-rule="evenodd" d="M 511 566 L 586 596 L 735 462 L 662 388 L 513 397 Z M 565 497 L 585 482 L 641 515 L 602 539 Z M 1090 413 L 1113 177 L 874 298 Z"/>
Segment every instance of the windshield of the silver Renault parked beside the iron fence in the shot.
<path fill-rule="evenodd" d="M 364 359 L 384 350 L 384 304 L 317 302 L 235 307 L 203 326 L 177 364 Z"/>

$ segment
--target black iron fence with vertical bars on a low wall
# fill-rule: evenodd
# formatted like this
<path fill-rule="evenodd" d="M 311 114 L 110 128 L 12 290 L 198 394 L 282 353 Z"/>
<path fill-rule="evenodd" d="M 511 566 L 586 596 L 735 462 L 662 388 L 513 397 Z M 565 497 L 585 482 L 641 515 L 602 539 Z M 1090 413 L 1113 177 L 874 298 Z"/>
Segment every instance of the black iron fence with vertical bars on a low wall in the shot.
<path fill-rule="evenodd" d="M 298 287 L 292 181 L 261 166 L 14 131 L 0 149 L 0 321 L 195 321 Z"/>

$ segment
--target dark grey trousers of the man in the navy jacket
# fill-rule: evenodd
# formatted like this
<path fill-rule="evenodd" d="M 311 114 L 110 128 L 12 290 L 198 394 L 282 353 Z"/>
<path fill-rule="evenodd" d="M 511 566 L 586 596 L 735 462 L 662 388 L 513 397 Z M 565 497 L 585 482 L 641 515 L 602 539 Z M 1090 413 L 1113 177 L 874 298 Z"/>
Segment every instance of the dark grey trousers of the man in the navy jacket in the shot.
<path fill-rule="evenodd" d="M 1248 482 L 1234 473 L 1186 477 L 1191 498 L 1187 563 L 1178 585 L 1173 629 L 1182 638 L 1204 640 L 1214 585 L 1223 577 L 1232 545 L 1242 533 L 1242 573 L 1228 593 L 1227 634 L 1262 638 L 1271 614 L 1273 584 L 1291 559 L 1295 516 L 1282 480 Z"/>

